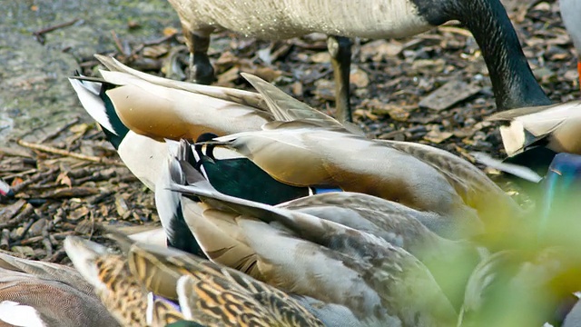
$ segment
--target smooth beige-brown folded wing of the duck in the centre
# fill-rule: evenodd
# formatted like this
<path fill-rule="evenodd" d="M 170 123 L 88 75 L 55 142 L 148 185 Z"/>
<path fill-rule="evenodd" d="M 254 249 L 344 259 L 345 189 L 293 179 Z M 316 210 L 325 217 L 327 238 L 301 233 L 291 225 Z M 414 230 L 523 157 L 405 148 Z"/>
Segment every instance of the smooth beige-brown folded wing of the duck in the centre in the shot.
<path fill-rule="evenodd" d="M 354 134 L 311 124 L 300 128 L 300 122 L 292 122 L 217 140 L 282 183 L 335 185 L 451 218 L 476 216 L 437 169 L 387 144 Z"/>

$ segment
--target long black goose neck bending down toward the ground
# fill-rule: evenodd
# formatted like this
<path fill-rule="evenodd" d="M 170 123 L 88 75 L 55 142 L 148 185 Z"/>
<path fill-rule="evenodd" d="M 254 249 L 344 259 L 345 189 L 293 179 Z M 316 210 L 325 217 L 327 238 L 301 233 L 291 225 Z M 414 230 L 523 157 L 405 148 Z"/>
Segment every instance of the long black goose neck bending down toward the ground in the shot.
<path fill-rule="evenodd" d="M 424 17 L 430 24 L 456 19 L 468 27 L 487 64 L 497 109 L 551 104 L 528 66 L 517 33 L 499 0 L 415 1 L 431 3 L 424 4 Z"/>

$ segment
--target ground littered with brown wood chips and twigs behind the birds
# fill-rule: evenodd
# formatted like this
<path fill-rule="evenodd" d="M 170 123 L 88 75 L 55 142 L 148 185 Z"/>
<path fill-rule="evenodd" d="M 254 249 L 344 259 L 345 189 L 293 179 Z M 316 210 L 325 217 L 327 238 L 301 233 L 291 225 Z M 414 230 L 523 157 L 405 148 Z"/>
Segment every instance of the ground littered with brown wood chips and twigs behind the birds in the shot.
<path fill-rule="evenodd" d="M 578 98 L 576 53 L 558 4 L 506 5 L 528 63 L 550 98 Z M 159 37 L 144 45 L 112 38 L 108 54 L 151 74 L 183 78 L 187 54 L 181 31 L 168 28 Z M 269 43 L 222 33 L 213 38 L 210 54 L 218 85 L 251 89 L 240 73 L 258 74 L 301 101 L 333 113 L 325 35 Z M 93 58 L 80 64 L 84 74 L 96 74 Z M 445 85 L 456 92 L 445 93 L 446 87 L 440 89 Z M 472 151 L 503 156 L 497 125 L 483 121 L 495 112 L 486 65 L 474 38 L 461 25 L 440 26 L 408 39 L 357 40 L 351 87 L 355 121 L 369 137 L 430 144 L 468 160 Z M 434 92 L 444 94 L 447 106 L 422 102 Z M 0 177 L 16 193 L 15 199 L 0 203 L 0 250 L 65 262 L 61 243 L 66 235 L 99 239 L 95 223 L 158 223 L 153 193 L 123 166 L 95 124 L 63 122 L 41 141 L 15 140 L 16 147 L 0 148 Z"/>

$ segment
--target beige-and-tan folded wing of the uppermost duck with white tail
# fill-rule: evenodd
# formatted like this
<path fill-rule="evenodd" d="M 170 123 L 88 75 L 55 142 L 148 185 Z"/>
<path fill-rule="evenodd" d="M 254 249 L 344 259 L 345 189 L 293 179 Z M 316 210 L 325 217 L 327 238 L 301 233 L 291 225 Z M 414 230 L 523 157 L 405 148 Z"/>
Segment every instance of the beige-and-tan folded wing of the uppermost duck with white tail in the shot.
<path fill-rule="evenodd" d="M 130 74 L 101 73 L 105 81 L 122 85 L 107 95 L 123 124 L 157 140 L 259 130 L 271 120 L 270 114 L 246 104 L 151 84 Z"/>

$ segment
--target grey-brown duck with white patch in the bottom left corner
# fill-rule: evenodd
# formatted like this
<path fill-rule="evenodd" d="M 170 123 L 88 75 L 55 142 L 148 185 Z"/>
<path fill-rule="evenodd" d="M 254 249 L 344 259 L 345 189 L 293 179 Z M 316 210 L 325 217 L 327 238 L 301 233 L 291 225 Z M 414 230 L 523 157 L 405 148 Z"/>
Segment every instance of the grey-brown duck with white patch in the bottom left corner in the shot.
<path fill-rule="evenodd" d="M 0 253 L 0 324 L 119 326 L 74 269 Z"/>

